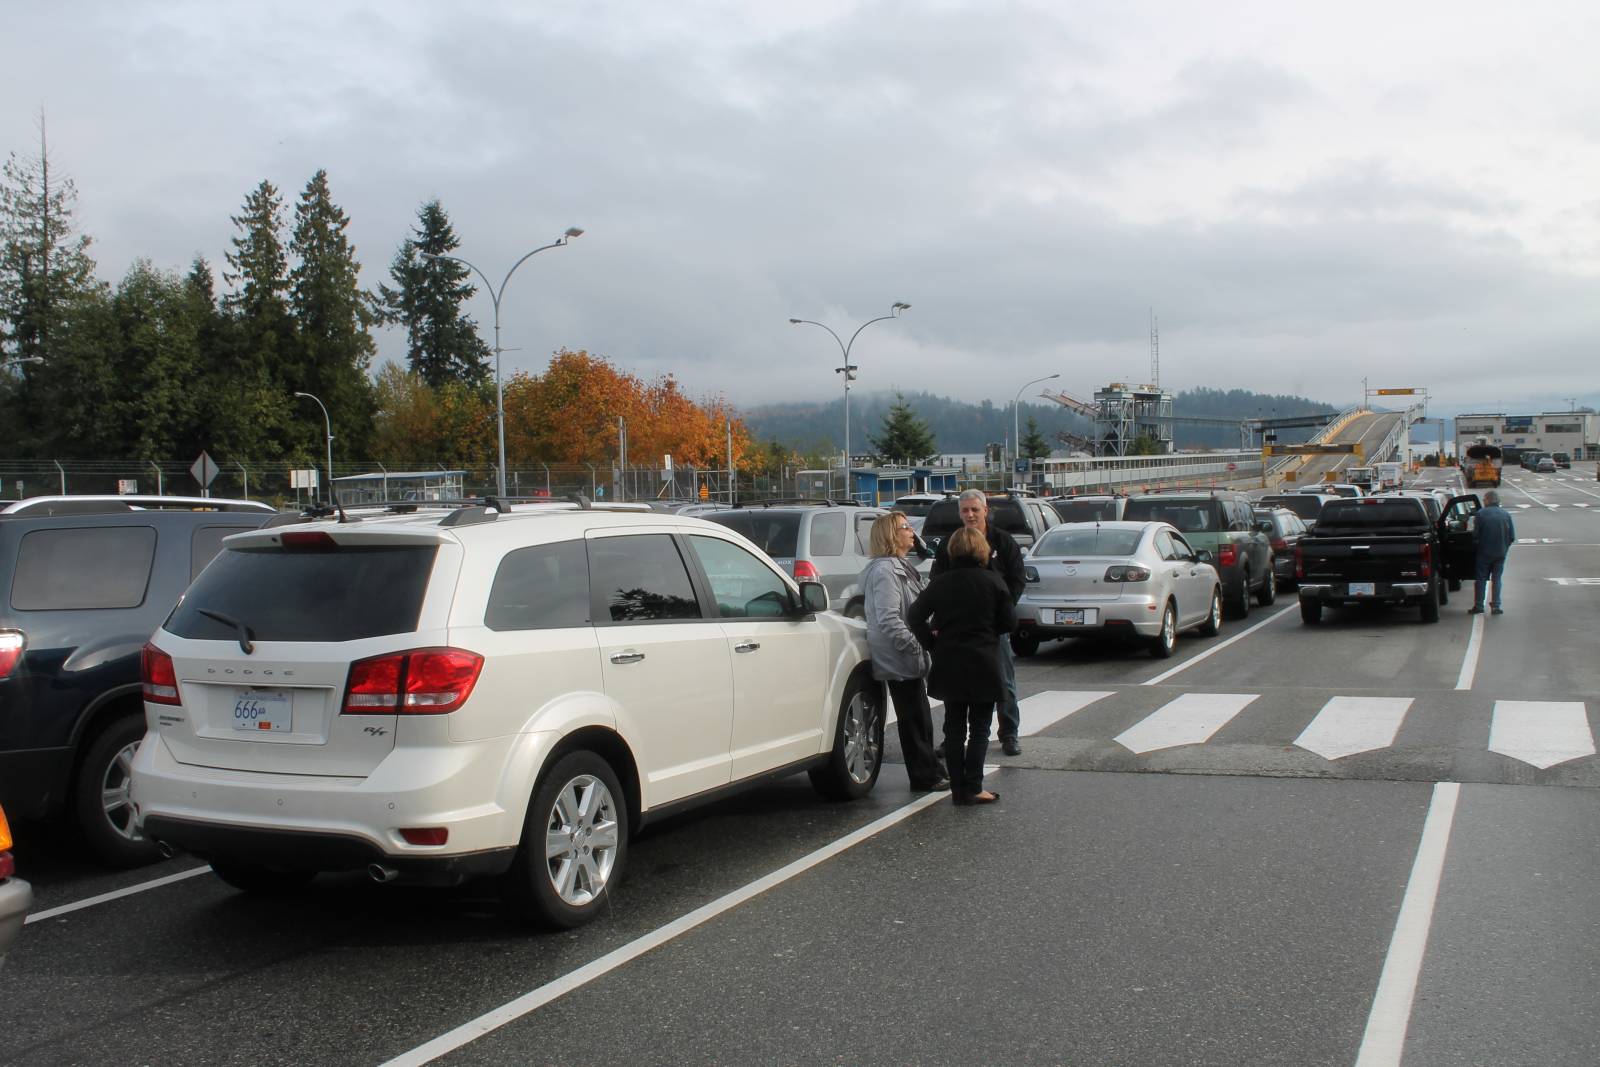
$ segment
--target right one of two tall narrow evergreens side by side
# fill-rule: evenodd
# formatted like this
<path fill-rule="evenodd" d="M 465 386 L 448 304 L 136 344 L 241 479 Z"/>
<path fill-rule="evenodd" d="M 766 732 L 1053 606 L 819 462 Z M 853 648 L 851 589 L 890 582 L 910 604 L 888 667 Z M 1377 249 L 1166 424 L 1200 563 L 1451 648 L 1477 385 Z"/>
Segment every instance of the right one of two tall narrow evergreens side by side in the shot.
<path fill-rule="evenodd" d="M 350 219 L 333 203 L 328 171 L 306 182 L 294 206 L 290 251 L 290 307 L 299 331 L 299 378 L 285 381 L 290 392 L 309 392 L 328 405 L 334 440 L 346 456 L 363 456 L 373 426 L 373 389 L 366 378 L 376 346 L 368 333 L 373 314 L 357 282 L 360 264 L 346 237 Z M 323 438 L 322 411 L 310 402 L 294 410 L 299 442 Z M 312 432 L 314 427 L 314 432 Z M 310 454 L 317 454 L 312 450 Z"/>

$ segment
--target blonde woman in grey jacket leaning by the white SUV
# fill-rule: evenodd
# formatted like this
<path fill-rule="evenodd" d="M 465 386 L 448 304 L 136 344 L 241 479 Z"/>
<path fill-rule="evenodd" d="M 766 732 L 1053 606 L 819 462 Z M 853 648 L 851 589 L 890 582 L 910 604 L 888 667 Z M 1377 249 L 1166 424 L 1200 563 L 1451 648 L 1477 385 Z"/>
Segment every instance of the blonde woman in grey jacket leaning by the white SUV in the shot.
<path fill-rule="evenodd" d="M 928 653 L 906 625 L 906 609 L 922 592 L 923 581 L 906 553 L 917 536 L 901 512 L 872 523 L 872 561 L 861 573 L 866 589 L 867 648 L 872 677 L 888 685 L 894 701 L 901 752 L 910 787 L 934 792 L 950 787 L 933 750 L 933 713 L 928 710 Z"/>

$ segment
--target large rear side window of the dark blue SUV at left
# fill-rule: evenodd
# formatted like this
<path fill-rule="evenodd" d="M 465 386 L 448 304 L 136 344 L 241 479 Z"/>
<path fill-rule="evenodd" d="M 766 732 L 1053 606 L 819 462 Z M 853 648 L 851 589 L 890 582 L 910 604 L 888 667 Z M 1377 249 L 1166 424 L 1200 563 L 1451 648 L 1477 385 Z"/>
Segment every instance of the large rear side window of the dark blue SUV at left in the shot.
<path fill-rule="evenodd" d="M 138 608 L 154 561 L 150 526 L 34 530 L 16 550 L 11 606 L 18 611 Z"/>

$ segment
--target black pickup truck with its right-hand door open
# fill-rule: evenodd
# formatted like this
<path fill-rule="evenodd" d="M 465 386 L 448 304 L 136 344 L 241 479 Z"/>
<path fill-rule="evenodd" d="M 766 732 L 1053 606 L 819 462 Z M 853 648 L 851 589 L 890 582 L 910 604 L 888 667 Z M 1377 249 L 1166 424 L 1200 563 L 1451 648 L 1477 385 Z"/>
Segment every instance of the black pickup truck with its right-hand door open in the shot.
<path fill-rule="evenodd" d="M 1438 622 L 1448 589 L 1472 577 L 1477 496 L 1458 496 L 1438 522 L 1422 501 L 1363 496 L 1330 501 L 1294 550 L 1301 619 L 1322 622 L 1323 606 L 1418 605 Z"/>

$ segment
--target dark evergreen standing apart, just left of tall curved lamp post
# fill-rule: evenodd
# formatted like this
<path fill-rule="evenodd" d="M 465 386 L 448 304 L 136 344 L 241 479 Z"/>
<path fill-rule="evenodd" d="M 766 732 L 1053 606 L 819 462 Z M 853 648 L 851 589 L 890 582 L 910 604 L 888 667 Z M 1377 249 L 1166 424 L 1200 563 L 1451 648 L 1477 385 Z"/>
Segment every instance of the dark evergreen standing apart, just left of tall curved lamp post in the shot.
<path fill-rule="evenodd" d="M 493 352 L 478 336 L 478 325 L 461 314 L 477 293 L 472 272 L 453 259 L 422 259 L 418 253 L 448 256 L 461 240 L 450 216 L 429 200 L 416 213 L 416 229 L 400 245 L 389 275 L 395 288 L 379 285 L 384 322 L 405 326 L 406 365 L 434 389 L 446 382 L 482 386 L 490 381 Z"/>

